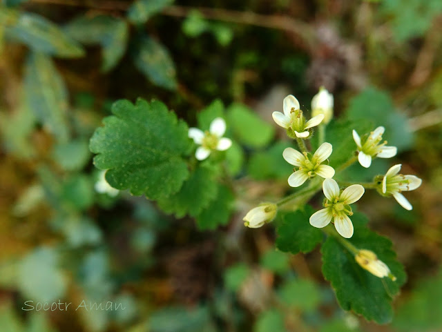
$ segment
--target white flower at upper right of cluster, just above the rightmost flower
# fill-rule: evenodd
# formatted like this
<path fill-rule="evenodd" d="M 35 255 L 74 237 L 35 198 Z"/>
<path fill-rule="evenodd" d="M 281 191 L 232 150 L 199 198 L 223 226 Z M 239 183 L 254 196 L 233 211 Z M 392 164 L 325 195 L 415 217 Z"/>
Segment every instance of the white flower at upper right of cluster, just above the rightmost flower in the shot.
<path fill-rule="evenodd" d="M 364 142 L 361 141 L 361 137 L 359 137 L 356 130 L 353 130 L 353 139 L 358 146 L 358 160 L 359 163 L 365 167 L 369 168 L 372 164 L 372 158 L 391 158 L 396 155 L 398 149 L 396 146 L 385 146 L 387 141 L 382 141 L 382 135 L 385 131 L 383 126 L 379 126 L 376 128 L 370 135 L 365 139 Z"/>

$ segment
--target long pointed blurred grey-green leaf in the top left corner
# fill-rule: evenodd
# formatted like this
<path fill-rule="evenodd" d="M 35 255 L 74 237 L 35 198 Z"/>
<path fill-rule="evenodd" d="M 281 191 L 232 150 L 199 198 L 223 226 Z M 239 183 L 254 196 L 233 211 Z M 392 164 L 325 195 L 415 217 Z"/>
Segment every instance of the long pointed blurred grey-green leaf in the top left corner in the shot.
<path fill-rule="evenodd" d="M 47 55 L 83 57 L 81 46 L 59 27 L 38 14 L 24 12 L 15 24 L 6 28 L 6 36 Z"/>

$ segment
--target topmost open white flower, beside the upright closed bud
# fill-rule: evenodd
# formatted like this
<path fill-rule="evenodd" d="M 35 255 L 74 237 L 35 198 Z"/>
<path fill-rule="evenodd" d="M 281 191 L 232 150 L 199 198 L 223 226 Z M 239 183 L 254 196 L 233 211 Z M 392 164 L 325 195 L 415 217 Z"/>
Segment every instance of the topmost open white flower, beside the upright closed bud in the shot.
<path fill-rule="evenodd" d="M 272 117 L 278 126 L 287 129 L 287 134 L 291 137 L 307 138 L 310 135 L 309 128 L 318 126 L 324 119 L 324 115 L 320 114 L 312 117 L 309 121 L 305 121 L 302 110 L 299 109 L 299 101 L 292 95 L 284 98 L 283 105 L 284 114 L 273 112 Z"/>

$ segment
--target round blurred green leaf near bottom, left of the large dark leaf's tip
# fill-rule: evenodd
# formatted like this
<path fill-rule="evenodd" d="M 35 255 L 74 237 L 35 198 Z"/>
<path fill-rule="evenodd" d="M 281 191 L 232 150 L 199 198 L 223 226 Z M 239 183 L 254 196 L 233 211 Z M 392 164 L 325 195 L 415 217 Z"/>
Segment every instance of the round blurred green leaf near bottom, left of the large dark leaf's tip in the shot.
<path fill-rule="evenodd" d="M 295 279 L 282 285 L 280 297 L 285 304 L 302 311 L 313 311 L 320 304 L 318 286 L 311 280 Z"/>

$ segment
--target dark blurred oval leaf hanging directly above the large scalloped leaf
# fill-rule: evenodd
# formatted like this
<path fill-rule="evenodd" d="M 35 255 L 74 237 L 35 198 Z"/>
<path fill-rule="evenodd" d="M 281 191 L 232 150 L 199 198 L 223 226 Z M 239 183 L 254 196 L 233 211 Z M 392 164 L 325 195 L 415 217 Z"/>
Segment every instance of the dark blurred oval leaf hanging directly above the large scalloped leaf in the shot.
<path fill-rule="evenodd" d="M 177 88 L 175 64 L 161 43 L 149 37 L 138 39 L 133 61 L 138 70 L 156 86 L 169 90 Z"/>

